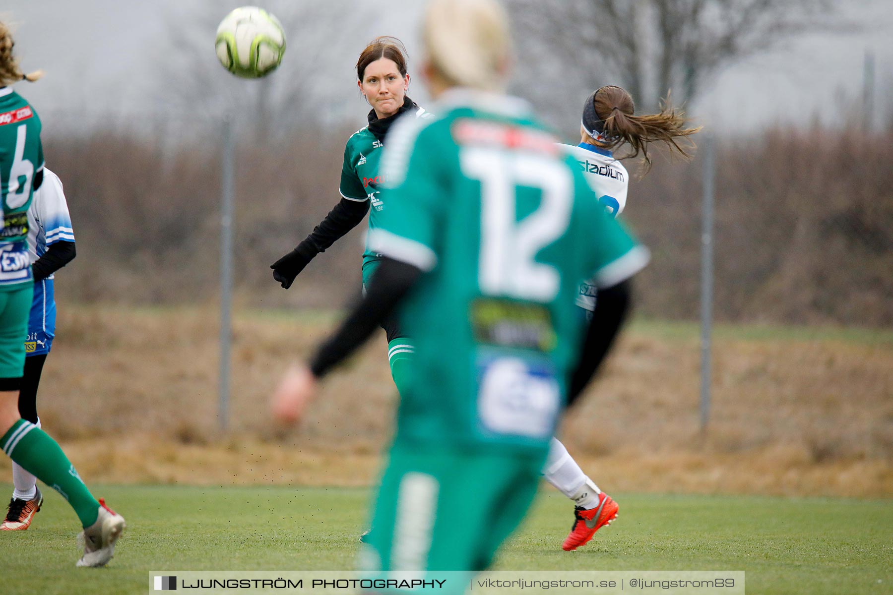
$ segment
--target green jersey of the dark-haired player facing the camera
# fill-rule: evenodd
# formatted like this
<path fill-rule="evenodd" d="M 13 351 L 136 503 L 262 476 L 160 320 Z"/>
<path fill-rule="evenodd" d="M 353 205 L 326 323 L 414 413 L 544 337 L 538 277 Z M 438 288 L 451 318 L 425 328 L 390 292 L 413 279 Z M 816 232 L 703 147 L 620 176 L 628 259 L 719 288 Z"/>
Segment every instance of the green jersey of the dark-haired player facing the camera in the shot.
<path fill-rule="evenodd" d="M 416 118 L 428 118 L 430 114 L 418 108 L 413 112 Z M 344 164 L 341 166 L 341 196 L 348 201 L 369 201 L 369 230 L 379 225 L 385 203 L 381 198 L 382 178 L 379 174 L 381 152 L 384 144 L 371 133 L 369 127 L 357 130 L 347 139 L 344 148 Z M 380 255 L 369 248 L 363 251 L 363 268 Z"/>

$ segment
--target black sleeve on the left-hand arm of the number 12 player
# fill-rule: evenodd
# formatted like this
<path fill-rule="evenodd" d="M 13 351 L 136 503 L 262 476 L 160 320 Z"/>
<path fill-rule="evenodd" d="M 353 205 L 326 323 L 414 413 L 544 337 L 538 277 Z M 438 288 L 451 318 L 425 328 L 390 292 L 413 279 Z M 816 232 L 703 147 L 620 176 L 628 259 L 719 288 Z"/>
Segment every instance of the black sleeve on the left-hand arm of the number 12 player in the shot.
<path fill-rule="evenodd" d="M 322 343 L 311 359 L 313 376 L 321 378 L 348 358 L 375 332 L 421 277 L 421 269 L 384 258 L 372 276 L 366 295 L 345 318 L 335 335 Z"/>

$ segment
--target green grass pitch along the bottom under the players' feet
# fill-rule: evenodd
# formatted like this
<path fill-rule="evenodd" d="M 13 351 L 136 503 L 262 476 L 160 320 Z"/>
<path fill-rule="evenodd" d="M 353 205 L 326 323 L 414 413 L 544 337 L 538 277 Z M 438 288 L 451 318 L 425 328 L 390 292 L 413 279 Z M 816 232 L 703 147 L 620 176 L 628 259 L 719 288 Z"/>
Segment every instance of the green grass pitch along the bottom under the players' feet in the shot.
<path fill-rule="evenodd" d="M 0 493 L 8 491 L 0 483 Z M 369 492 L 325 488 L 101 486 L 128 520 L 104 569 L 75 568 L 71 508 L 47 490 L 26 532 L 0 533 L 7 595 L 145 593 L 152 570 L 353 568 Z M 893 501 L 613 494 L 621 515 L 577 552 L 571 507 L 551 491 L 497 569 L 744 570 L 747 593 L 893 593 Z"/>

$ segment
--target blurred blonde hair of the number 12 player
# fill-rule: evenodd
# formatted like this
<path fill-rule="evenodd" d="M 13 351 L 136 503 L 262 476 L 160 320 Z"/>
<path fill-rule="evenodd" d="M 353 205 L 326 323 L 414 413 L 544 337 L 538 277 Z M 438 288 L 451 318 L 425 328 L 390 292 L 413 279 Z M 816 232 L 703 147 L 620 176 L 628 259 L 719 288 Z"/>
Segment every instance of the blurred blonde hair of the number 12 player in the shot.
<path fill-rule="evenodd" d="M 495 0 L 431 0 L 423 37 L 431 65 L 451 85 L 505 89 L 512 44 Z"/>

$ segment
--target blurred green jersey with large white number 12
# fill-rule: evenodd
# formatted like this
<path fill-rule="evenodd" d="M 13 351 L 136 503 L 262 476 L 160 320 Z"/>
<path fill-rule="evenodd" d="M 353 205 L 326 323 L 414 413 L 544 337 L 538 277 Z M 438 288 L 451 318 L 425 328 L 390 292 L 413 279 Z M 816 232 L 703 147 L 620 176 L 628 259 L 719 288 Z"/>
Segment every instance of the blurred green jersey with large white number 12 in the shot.
<path fill-rule="evenodd" d="M 580 282 L 615 285 L 647 251 L 525 103 L 447 96 L 388 136 L 388 209 L 368 241 L 427 271 L 401 310 L 416 359 L 396 439 L 545 450 L 582 338 Z"/>

